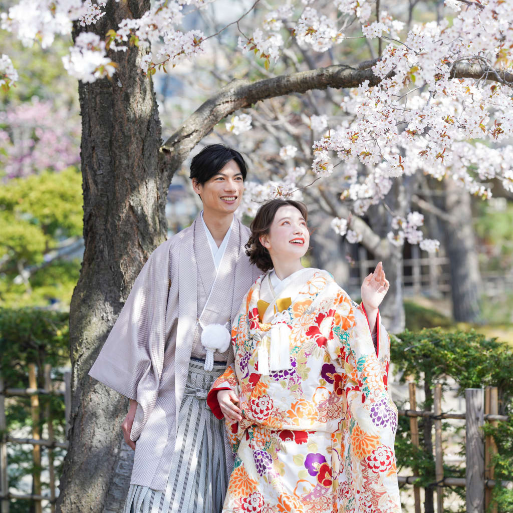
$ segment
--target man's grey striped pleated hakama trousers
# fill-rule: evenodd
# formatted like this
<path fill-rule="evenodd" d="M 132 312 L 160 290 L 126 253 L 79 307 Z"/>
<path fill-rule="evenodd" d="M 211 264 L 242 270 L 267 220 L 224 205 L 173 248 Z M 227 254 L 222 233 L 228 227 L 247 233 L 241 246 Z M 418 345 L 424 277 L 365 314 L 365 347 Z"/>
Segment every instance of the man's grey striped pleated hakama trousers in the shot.
<path fill-rule="evenodd" d="M 219 513 L 228 486 L 224 420 L 207 406 L 207 393 L 226 369 L 211 371 L 191 359 L 171 470 L 165 491 L 130 485 L 123 513 Z"/>

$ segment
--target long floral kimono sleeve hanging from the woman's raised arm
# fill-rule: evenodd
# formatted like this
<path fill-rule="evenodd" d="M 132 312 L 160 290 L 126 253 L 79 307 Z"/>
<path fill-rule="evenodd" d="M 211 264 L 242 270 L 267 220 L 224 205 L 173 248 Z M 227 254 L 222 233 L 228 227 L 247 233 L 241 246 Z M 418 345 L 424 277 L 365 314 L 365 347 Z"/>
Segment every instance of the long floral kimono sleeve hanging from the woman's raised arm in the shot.
<path fill-rule="evenodd" d="M 341 329 L 336 329 L 339 358 L 346 372 L 346 415 L 342 422 L 341 468 L 357 511 L 377 504 L 377 513 L 400 513 L 394 439 L 397 408 L 383 380 L 381 365 L 361 307 L 345 306 Z M 341 476 L 340 480 L 344 478 Z M 375 506 L 374 506 L 375 507 Z"/>

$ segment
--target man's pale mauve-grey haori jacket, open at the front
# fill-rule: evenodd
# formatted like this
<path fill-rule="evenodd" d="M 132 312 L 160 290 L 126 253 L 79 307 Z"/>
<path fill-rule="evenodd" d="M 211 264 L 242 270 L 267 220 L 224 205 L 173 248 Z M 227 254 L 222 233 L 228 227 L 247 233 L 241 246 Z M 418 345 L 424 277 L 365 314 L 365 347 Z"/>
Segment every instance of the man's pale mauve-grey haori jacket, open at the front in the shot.
<path fill-rule="evenodd" d="M 245 293 L 261 274 L 245 254 L 248 238 L 248 228 L 235 220 L 202 317 L 204 325 L 231 325 Z M 203 286 L 209 291 L 212 266 L 198 216 L 153 251 L 89 372 L 139 403 L 130 434 L 136 441 L 131 484 L 166 488 L 191 352 L 199 341 L 196 319 L 204 306 L 199 303 L 206 301 L 198 290 Z M 226 360 L 233 360 L 231 351 Z"/>

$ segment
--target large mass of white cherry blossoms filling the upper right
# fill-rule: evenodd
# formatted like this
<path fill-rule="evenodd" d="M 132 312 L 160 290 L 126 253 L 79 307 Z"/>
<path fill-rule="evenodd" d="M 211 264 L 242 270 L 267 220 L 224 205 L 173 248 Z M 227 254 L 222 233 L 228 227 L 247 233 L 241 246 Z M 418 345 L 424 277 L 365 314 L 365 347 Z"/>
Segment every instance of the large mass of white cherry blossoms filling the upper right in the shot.
<path fill-rule="evenodd" d="M 483 198 L 491 195 L 491 179 L 513 191 L 513 148 L 504 144 L 513 135 L 510 86 L 451 77 L 455 61 L 466 59 L 479 63 L 486 78 L 493 52 L 496 65 L 511 70 L 513 17 L 506 11 L 500 0 L 490 0 L 460 11 L 452 26 L 415 25 L 404 44 L 388 45 L 373 68 L 382 82 L 349 91 L 341 108 L 352 121 L 315 142 L 313 171 L 329 173 L 335 153 L 347 168 L 347 198 L 359 213 L 383 200 L 394 177 L 419 169 L 438 180 L 448 176 Z M 504 146 L 497 151 L 479 140 Z"/>

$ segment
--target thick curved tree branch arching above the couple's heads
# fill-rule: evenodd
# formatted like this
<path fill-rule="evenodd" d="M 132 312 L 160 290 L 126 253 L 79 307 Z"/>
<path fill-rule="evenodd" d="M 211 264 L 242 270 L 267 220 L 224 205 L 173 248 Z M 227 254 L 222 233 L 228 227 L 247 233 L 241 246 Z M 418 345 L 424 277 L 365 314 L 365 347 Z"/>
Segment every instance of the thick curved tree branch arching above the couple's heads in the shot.
<path fill-rule="evenodd" d="M 235 80 L 223 87 L 203 103 L 185 123 L 160 148 L 161 171 L 171 181 L 174 171 L 180 167 L 192 148 L 205 137 L 224 117 L 236 110 L 251 107 L 253 104 L 276 96 L 291 93 L 305 93 L 312 89 L 333 87 L 345 89 L 358 87 L 368 81 L 376 86 L 381 78 L 374 75 L 370 66 L 374 61 L 366 61 L 355 67 L 334 65 L 300 71 L 256 82 Z M 391 74 L 393 76 L 393 74 Z M 513 73 L 496 70 L 481 64 L 458 62 L 450 71 L 451 78 L 476 78 L 513 85 Z"/>

